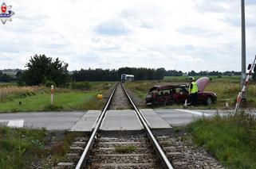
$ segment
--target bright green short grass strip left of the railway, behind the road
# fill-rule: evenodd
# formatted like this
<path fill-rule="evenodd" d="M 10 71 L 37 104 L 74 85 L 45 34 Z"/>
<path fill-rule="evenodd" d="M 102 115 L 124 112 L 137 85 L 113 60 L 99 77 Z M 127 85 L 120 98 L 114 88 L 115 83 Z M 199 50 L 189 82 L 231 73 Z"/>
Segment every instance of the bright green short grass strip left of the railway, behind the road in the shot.
<path fill-rule="evenodd" d="M 54 94 L 54 106 L 50 106 L 50 94 L 35 94 L 26 98 L 16 98 L 9 102 L 0 102 L 0 112 L 31 112 L 48 110 L 85 110 L 100 109 L 103 101 L 96 100 L 100 91 L 69 91 Z M 21 105 L 19 104 L 21 102 Z"/>

